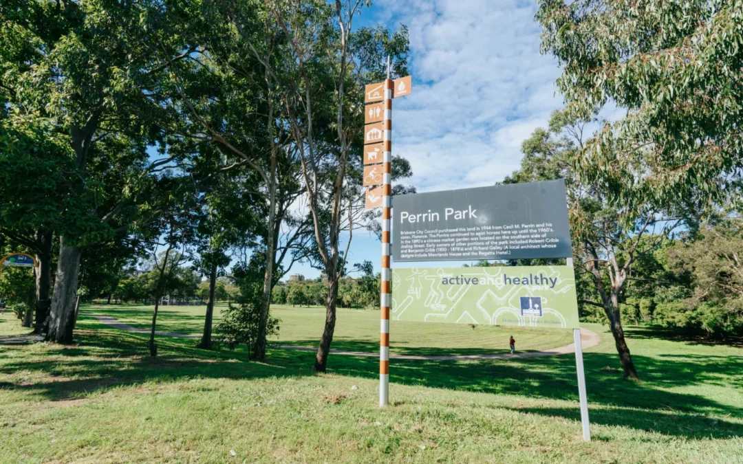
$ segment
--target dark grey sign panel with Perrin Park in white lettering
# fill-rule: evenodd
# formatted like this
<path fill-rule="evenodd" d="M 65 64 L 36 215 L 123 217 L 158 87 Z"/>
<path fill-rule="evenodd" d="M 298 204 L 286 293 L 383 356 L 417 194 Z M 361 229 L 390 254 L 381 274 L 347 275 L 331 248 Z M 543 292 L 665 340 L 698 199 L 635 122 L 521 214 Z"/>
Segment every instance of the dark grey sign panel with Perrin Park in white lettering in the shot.
<path fill-rule="evenodd" d="M 395 261 L 571 258 L 565 181 L 395 196 Z"/>

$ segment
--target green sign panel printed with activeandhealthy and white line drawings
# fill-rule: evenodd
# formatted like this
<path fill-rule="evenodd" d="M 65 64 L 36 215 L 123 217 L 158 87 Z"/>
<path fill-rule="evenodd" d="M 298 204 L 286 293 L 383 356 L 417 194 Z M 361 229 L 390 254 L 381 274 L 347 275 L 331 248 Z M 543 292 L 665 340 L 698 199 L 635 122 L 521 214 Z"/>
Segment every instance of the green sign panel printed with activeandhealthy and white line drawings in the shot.
<path fill-rule="evenodd" d="M 569 266 L 392 269 L 395 321 L 577 329 Z"/>

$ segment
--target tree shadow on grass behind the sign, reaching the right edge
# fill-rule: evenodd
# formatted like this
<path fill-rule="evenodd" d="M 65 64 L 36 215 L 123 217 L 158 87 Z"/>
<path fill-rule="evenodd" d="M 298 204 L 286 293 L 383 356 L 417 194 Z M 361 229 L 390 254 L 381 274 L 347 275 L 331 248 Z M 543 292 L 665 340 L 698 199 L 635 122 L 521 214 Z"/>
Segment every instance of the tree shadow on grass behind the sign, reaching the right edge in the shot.
<path fill-rule="evenodd" d="M 585 353 L 588 404 L 593 407 L 591 422 L 626 425 L 678 437 L 743 436 L 743 423 L 729 422 L 723 417 L 741 417 L 742 408 L 701 395 L 665 389 L 715 382 L 735 388 L 735 379 L 743 375 L 743 363 L 739 359 L 700 358 L 707 359 L 684 361 L 635 355 L 637 369 L 646 382 L 632 382 L 623 380 L 620 372 L 603 370 L 606 365 L 616 364 L 613 354 Z M 377 378 L 378 361 L 374 358 L 331 356 L 329 365 L 334 373 Z M 393 359 L 389 370 L 393 384 L 578 401 L 572 355 L 478 362 Z M 721 373 L 727 376 L 728 382 L 720 380 Z M 580 420 L 577 405 L 575 408 L 531 408 L 529 411 Z M 716 417 L 707 417 L 710 414 Z"/>

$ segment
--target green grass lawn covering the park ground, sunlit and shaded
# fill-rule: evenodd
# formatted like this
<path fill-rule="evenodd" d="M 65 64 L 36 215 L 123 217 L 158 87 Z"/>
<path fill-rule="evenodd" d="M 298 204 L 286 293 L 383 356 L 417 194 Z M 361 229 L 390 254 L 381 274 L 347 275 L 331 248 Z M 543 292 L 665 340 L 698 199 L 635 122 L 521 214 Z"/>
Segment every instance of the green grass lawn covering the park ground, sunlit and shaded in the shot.
<path fill-rule="evenodd" d="M 276 311 L 282 340 L 317 339 L 314 316 L 302 310 Z M 378 316 L 357 314 L 370 324 Z M 341 312 L 337 327 L 348 340 L 334 347 L 354 343 L 353 330 L 360 343 L 372 343 L 378 325 L 352 329 L 353 315 Z M 5 316 L 0 330 L 17 324 Z M 198 332 L 198 318 L 173 316 L 163 316 L 160 330 Z M 146 315 L 130 317 L 146 325 Z M 244 350 L 207 352 L 193 340 L 160 337 L 151 359 L 146 336 L 85 312 L 78 327 L 72 346 L 0 347 L 0 462 L 743 463 L 739 347 L 630 327 L 643 382 L 627 382 L 614 369 L 611 335 L 588 324 L 602 343 L 585 353 L 594 437 L 585 443 L 573 355 L 393 360 L 392 404 L 380 409 L 373 358 L 331 356 L 320 375 L 311 372 L 314 353 L 272 348 L 267 362 L 256 363 Z M 490 339 L 483 327 L 464 328 L 470 341 L 447 339 L 448 349 Z M 415 330 L 398 339 L 402 349 L 441 346 Z"/>

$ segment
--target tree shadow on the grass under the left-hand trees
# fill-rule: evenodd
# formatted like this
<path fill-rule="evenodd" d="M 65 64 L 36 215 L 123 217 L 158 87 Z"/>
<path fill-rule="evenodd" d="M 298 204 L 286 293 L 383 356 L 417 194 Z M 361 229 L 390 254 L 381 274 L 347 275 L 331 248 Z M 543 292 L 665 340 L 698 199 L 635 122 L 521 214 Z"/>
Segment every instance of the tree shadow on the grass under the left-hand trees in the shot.
<path fill-rule="evenodd" d="M 35 399 L 59 401 L 143 382 L 311 375 L 310 368 L 296 362 L 291 353 L 278 353 L 271 364 L 265 364 L 250 362 L 246 350 L 201 350 L 192 340 L 158 337 L 158 356 L 152 358 L 146 335 L 79 330 L 76 338 L 76 345 L 51 345 L 30 359 L 13 353 L 23 347 L 0 352 L 1 370 L 11 380 L 0 382 L 0 390 L 27 391 Z"/>

